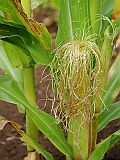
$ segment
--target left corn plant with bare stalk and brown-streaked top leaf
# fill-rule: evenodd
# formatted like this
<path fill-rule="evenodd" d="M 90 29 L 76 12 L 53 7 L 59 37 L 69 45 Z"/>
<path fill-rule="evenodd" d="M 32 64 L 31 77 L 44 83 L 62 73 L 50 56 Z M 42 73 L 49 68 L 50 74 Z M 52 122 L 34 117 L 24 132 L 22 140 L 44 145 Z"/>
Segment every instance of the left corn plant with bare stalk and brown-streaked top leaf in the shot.
<path fill-rule="evenodd" d="M 23 12 L 21 3 L 28 16 Z M 0 97 L 2 100 L 17 104 L 20 112 L 26 112 L 26 133 L 38 143 L 38 126 L 36 127 L 33 123 L 34 120 L 31 119 L 31 117 L 33 117 L 32 112 L 34 111 L 29 112 L 30 108 L 25 108 L 25 103 L 33 106 L 31 109 L 35 109 L 38 114 L 34 115 L 35 121 L 40 122 L 40 120 L 38 120 L 41 119 L 40 114 L 43 116 L 41 124 L 39 123 L 39 127 L 42 127 L 42 130 L 40 130 L 46 132 L 48 134 L 47 137 L 51 137 L 52 139 L 57 136 L 56 132 L 59 130 L 63 140 L 59 140 L 59 137 L 57 136 L 58 141 L 61 142 L 55 141 L 60 144 L 60 148 L 67 145 L 65 151 L 65 154 L 67 154 L 67 151 L 70 152 L 70 147 L 66 143 L 61 128 L 54 123 L 54 118 L 42 111 L 39 112 L 35 102 L 34 66 L 36 63 L 49 64 L 51 59 L 50 36 L 45 26 L 38 24 L 33 19 L 28 19 L 31 9 L 29 8 L 30 1 L 22 1 L 21 3 L 20 1 L 0 1 L 0 9 L 3 15 L 0 20 L 1 39 L 3 41 L 1 42 L 1 68 L 5 71 L 5 75 L 1 77 L 1 83 L 6 81 L 6 87 L 9 88 L 9 93 L 11 93 L 12 96 L 11 98 L 8 98 L 7 95 L 4 95 L 7 93 L 3 93 L 6 91 L 1 88 Z M 19 44 L 19 46 L 17 44 Z M 7 85 L 7 83 L 10 83 L 10 85 Z M 18 98 L 17 96 L 20 97 Z M 45 119 L 45 121 L 43 119 Z M 47 123 L 46 120 L 48 121 Z M 54 130 L 56 130 L 55 135 Z M 31 147 L 31 145 L 28 145 L 28 152 L 33 150 L 34 148 Z M 46 151 L 41 150 L 41 152 L 46 159 L 53 159 Z"/>

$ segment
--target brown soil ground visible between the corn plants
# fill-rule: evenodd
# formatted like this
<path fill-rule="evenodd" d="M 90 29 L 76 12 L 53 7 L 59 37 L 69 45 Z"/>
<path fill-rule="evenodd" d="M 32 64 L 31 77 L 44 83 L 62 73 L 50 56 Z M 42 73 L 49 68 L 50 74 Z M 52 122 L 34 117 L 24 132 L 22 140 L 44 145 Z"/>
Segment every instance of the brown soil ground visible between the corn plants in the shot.
<path fill-rule="evenodd" d="M 36 13 L 36 19 L 47 24 L 48 29 L 51 32 L 52 37 L 54 38 L 57 29 L 54 17 L 50 19 L 50 17 L 48 16 L 48 12 L 46 12 L 45 10 L 44 12 L 41 12 L 41 14 Z M 43 81 L 42 85 L 40 83 L 43 70 L 44 67 L 40 66 L 35 71 L 37 103 L 41 107 L 41 109 L 44 109 L 46 112 L 50 113 L 51 102 L 48 102 L 46 107 L 44 108 L 45 101 L 42 101 L 42 99 L 45 98 L 46 89 L 49 84 L 49 77 Z M 48 71 L 46 70 L 45 74 L 47 73 Z M 48 90 L 48 95 L 49 97 L 53 96 L 50 89 Z M 15 105 L 1 101 L 0 115 L 6 117 L 9 120 L 18 122 L 25 129 L 25 116 L 18 112 Z M 98 134 L 98 142 L 118 129 L 120 129 L 120 120 L 111 122 L 104 130 L 102 130 Z M 39 138 L 44 148 L 51 152 L 56 160 L 65 160 L 64 155 L 62 155 L 42 133 L 39 133 Z M 24 143 L 21 143 L 21 141 L 19 140 L 19 135 L 17 134 L 15 129 L 10 125 L 6 125 L 4 130 L 0 132 L 0 160 L 23 160 L 25 155 L 26 145 Z M 106 153 L 104 160 L 120 160 L 120 142 L 118 142 L 108 153 Z"/>

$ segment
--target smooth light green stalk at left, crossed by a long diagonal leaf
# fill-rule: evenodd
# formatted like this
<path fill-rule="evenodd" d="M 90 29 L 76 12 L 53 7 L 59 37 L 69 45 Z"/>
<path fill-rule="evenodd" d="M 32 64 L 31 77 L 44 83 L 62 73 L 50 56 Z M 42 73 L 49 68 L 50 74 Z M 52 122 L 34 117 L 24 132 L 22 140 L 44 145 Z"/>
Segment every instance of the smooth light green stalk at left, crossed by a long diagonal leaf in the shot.
<path fill-rule="evenodd" d="M 22 6 L 28 17 L 31 16 L 31 0 L 22 0 Z M 28 102 L 32 106 L 36 106 L 36 94 L 35 94 L 35 77 L 34 77 L 34 65 L 28 68 L 23 68 L 23 83 L 24 83 L 24 94 L 28 99 Z M 38 129 L 33 123 L 30 116 L 28 116 L 26 111 L 26 133 L 38 142 Z M 34 148 L 27 146 L 28 151 L 34 151 Z"/>

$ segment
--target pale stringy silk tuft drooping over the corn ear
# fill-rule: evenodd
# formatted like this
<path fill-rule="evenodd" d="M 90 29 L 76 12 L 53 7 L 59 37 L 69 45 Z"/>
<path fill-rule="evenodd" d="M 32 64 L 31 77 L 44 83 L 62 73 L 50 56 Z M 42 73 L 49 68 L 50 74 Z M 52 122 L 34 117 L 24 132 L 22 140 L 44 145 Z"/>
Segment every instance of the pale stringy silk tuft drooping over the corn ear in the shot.
<path fill-rule="evenodd" d="M 59 102 L 54 109 L 59 120 L 82 115 L 90 121 L 94 116 L 96 103 L 101 101 L 102 61 L 93 41 L 76 40 L 56 50 L 51 76 Z"/>

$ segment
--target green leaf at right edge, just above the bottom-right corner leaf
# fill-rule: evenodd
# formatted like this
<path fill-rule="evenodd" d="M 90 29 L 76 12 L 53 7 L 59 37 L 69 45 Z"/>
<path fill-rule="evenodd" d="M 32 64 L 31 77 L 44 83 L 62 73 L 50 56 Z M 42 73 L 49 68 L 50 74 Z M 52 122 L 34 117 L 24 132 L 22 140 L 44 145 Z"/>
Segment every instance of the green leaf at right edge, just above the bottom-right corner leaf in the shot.
<path fill-rule="evenodd" d="M 98 132 L 105 128 L 109 122 L 118 118 L 120 118 L 120 103 L 117 102 L 107 106 L 99 116 Z"/>

